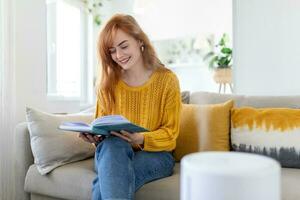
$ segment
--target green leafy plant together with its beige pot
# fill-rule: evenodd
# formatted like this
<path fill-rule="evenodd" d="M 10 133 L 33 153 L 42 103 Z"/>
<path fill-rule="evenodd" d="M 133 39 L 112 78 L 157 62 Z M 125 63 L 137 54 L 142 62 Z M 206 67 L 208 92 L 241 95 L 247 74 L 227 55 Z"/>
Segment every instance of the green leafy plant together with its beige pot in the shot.
<path fill-rule="evenodd" d="M 208 60 L 209 68 L 214 70 L 214 81 L 219 84 L 231 84 L 232 49 L 228 45 L 228 35 L 224 33 L 217 45 L 214 45 L 211 39 L 208 39 L 208 43 L 211 48 L 203 60 Z"/>

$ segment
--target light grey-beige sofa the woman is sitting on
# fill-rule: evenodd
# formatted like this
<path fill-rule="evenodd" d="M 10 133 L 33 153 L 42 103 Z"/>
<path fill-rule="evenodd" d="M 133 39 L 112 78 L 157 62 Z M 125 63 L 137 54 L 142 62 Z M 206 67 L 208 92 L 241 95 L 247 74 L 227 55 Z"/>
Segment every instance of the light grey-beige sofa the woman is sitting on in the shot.
<path fill-rule="evenodd" d="M 190 95 L 192 104 L 215 104 L 234 99 L 235 106 L 300 108 L 300 96 L 243 96 L 195 92 Z M 91 199 L 91 183 L 95 176 L 93 159 L 74 162 L 56 168 L 47 176 L 39 174 L 33 162 L 30 138 L 26 123 L 16 127 L 15 177 L 16 197 L 19 200 Z M 180 163 L 174 174 L 144 185 L 136 199 L 177 200 L 179 196 Z M 300 169 L 282 168 L 282 199 L 300 199 Z"/>

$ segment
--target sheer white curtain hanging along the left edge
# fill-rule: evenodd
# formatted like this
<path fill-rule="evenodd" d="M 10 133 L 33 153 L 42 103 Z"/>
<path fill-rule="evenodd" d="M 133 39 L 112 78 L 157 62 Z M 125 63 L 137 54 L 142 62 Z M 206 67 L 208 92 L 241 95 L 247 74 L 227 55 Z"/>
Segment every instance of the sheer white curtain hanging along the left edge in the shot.
<path fill-rule="evenodd" d="M 13 136 L 15 78 L 13 59 L 13 2 L 0 1 L 0 199 L 15 199 Z"/>

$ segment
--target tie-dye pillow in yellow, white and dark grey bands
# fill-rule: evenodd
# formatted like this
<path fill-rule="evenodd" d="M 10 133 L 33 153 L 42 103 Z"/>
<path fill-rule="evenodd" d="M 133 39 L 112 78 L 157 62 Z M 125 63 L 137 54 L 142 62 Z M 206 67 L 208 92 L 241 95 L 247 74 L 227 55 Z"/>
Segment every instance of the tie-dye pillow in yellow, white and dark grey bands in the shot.
<path fill-rule="evenodd" d="M 283 167 L 300 168 L 300 109 L 233 108 L 231 144 L 234 151 L 263 154 Z"/>

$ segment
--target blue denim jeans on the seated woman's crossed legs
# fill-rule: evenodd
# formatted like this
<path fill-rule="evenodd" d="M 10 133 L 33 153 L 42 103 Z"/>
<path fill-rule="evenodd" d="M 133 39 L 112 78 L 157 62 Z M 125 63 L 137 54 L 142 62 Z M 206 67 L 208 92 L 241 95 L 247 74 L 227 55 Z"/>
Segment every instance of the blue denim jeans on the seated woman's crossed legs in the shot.
<path fill-rule="evenodd" d="M 125 140 L 110 136 L 95 153 L 93 200 L 129 200 L 145 183 L 172 175 L 170 152 L 134 152 Z"/>

